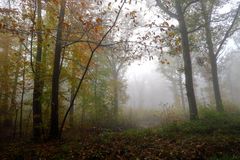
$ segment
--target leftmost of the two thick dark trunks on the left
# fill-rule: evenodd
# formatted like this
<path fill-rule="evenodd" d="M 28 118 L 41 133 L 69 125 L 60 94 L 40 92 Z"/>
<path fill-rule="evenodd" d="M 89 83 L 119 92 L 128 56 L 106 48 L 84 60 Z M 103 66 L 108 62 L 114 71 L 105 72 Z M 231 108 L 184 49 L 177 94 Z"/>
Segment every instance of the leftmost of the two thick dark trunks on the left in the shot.
<path fill-rule="evenodd" d="M 37 0 L 37 55 L 34 73 L 34 89 L 33 89 L 33 140 L 42 139 L 42 4 L 41 0 Z"/>

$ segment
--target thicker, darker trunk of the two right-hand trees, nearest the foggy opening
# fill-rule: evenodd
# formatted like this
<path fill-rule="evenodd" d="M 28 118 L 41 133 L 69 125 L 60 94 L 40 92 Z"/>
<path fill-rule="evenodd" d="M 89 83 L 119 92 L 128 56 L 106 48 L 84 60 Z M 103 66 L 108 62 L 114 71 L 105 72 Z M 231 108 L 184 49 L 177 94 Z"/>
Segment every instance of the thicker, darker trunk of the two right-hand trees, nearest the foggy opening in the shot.
<path fill-rule="evenodd" d="M 175 0 L 175 7 L 178 15 L 179 29 L 181 33 L 182 39 L 182 52 L 183 52 L 183 60 L 184 60 L 184 71 L 185 71 L 185 83 L 187 90 L 187 97 L 189 103 L 189 112 L 190 112 L 190 120 L 198 119 L 198 110 L 196 104 L 196 98 L 194 94 L 193 88 L 193 77 L 192 77 L 192 62 L 190 56 L 190 48 L 189 48 L 189 40 L 188 40 L 188 32 L 184 19 L 184 13 L 182 10 L 181 2 L 179 0 Z"/>

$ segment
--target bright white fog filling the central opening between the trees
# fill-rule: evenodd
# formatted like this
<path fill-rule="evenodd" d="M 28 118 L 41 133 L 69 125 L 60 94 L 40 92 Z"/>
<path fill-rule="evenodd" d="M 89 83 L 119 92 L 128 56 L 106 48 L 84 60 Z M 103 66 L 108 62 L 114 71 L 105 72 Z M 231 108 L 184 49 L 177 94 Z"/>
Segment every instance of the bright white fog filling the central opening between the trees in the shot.
<path fill-rule="evenodd" d="M 143 60 L 132 63 L 126 72 L 127 106 L 158 108 L 172 105 L 171 83 L 158 71 L 159 61 Z"/>

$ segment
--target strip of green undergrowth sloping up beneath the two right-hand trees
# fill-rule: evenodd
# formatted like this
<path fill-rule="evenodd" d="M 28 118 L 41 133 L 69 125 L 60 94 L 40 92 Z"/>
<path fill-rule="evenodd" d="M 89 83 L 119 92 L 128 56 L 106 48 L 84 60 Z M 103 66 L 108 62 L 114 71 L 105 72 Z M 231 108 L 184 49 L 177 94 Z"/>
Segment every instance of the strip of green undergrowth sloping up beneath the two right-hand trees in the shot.
<path fill-rule="evenodd" d="M 200 110 L 199 120 L 174 122 L 150 129 L 130 129 L 122 134 L 125 137 L 134 138 L 153 134 L 168 137 L 177 135 L 240 134 L 240 113 L 219 113 L 205 108 Z"/>

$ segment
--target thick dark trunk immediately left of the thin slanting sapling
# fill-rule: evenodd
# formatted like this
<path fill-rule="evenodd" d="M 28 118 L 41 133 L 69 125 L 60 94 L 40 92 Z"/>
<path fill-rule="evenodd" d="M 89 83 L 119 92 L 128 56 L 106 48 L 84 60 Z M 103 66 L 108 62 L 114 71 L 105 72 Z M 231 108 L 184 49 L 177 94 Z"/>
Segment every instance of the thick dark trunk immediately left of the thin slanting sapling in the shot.
<path fill-rule="evenodd" d="M 58 94 L 59 94 L 59 76 L 60 76 L 60 61 L 62 52 L 62 32 L 65 15 L 66 0 L 61 0 L 61 8 L 58 19 L 57 37 L 54 55 L 54 67 L 52 76 L 52 97 L 51 97 L 51 120 L 50 120 L 50 139 L 59 137 L 58 126 Z"/>

